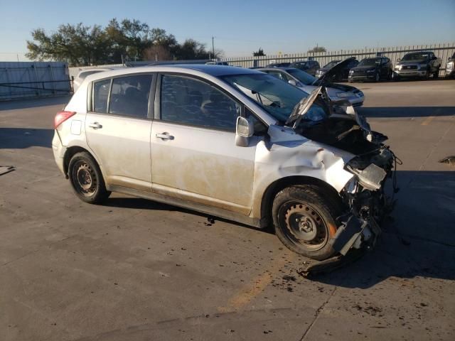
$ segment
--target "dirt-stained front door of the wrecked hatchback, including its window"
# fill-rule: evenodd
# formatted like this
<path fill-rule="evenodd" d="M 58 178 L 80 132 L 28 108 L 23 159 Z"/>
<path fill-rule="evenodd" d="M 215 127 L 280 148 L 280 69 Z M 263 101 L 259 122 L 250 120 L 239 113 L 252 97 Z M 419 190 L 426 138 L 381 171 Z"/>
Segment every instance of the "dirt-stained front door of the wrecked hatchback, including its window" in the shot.
<path fill-rule="evenodd" d="M 154 193 L 247 215 L 255 151 L 235 145 L 242 106 L 215 85 L 189 75 L 159 77 L 151 131 Z"/>

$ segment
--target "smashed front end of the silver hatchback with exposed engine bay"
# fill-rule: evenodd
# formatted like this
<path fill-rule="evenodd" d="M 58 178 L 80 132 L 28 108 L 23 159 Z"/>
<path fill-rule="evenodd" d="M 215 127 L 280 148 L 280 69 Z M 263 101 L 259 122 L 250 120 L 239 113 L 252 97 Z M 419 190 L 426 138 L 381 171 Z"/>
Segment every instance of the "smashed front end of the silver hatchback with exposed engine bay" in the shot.
<path fill-rule="evenodd" d="M 296 105 L 287 124 L 297 134 L 355 155 L 344 166 L 354 176 L 340 192 L 346 214 L 338 218 L 330 243 L 342 256 L 350 249 L 370 249 L 398 190 L 394 168 L 401 161 L 383 144 L 387 136 L 372 131 L 347 101 L 331 101 L 323 86 Z M 391 197 L 385 193 L 387 179 L 392 180 Z"/>

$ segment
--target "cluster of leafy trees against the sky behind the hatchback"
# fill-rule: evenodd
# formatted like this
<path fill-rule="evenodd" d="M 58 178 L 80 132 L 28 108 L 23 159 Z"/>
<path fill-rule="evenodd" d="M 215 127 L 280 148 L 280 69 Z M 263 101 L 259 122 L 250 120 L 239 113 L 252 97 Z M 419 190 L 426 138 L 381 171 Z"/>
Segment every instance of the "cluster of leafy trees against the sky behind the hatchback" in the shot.
<path fill-rule="evenodd" d="M 207 59 L 205 45 L 194 39 L 179 44 L 161 28 L 149 28 L 138 20 L 117 18 L 105 28 L 66 24 L 53 33 L 42 28 L 31 32 L 27 57 L 31 60 L 63 60 L 70 66 L 122 63 L 129 60 Z M 223 51 L 217 50 L 218 58 Z"/>

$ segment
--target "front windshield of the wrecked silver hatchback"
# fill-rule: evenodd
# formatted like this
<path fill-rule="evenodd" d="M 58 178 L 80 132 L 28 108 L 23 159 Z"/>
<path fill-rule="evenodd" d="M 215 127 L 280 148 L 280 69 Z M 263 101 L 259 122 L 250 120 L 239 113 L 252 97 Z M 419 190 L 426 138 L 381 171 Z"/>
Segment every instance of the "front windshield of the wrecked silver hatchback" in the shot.
<path fill-rule="evenodd" d="M 286 122 L 302 98 L 308 97 L 306 92 L 283 82 L 267 73 L 249 73 L 244 75 L 221 76 L 229 85 L 237 87 L 248 97 L 254 99 L 269 114 L 282 123 Z M 323 109 L 313 105 L 306 114 L 324 115 Z"/>

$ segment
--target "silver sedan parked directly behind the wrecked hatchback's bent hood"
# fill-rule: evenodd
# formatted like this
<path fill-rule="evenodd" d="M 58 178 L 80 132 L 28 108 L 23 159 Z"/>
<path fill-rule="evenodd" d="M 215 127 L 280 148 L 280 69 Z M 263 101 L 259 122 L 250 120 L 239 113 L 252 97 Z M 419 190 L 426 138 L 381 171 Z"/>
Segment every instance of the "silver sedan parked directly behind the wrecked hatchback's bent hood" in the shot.
<path fill-rule="evenodd" d="M 316 77 L 294 67 L 264 67 L 257 70 L 284 80 L 307 94 L 319 87 L 319 80 Z M 347 99 L 353 107 L 360 107 L 365 100 L 363 92 L 350 85 L 329 83 L 326 85 L 326 90 L 331 100 Z"/>

